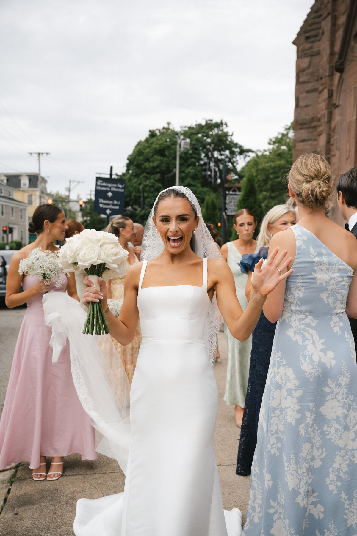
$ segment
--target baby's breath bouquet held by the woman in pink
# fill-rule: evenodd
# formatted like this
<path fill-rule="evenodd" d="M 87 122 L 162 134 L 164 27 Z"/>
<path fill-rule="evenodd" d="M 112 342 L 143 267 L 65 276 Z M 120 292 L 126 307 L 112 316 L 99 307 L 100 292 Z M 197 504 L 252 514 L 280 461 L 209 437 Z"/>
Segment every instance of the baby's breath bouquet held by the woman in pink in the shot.
<path fill-rule="evenodd" d="M 67 269 L 62 269 L 59 264 L 59 254 L 46 249 L 35 248 L 28 257 L 21 259 L 19 264 L 19 273 L 22 275 L 37 276 L 44 279 L 46 285 L 55 281 L 55 287 L 60 288 L 63 281 L 59 278 L 62 273 L 68 274 Z"/>

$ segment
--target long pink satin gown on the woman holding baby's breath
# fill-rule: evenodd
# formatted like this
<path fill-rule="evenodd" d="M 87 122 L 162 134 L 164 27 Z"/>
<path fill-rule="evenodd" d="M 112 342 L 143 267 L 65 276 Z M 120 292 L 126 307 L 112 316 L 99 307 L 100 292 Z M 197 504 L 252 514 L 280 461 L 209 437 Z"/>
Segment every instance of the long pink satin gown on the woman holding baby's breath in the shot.
<path fill-rule="evenodd" d="M 63 285 L 52 291 L 65 292 Z M 26 276 L 23 287 L 36 285 L 38 278 Z M 0 421 L 0 470 L 12 462 L 40 465 L 42 456 L 68 456 L 79 452 L 82 459 L 96 459 L 94 428 L 77 396 L 72 380 L 69 345 L 52 364 L 51 330 L 45 325 L 42 296 L 27 303 L 11 367 Z"/>

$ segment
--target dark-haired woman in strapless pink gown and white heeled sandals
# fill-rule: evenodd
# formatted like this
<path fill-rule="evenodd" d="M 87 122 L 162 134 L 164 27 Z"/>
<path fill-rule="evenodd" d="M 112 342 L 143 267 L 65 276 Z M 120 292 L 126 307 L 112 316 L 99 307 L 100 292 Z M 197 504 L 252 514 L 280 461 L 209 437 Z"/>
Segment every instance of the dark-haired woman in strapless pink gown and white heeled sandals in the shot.
<path fill-rule="evenodd" d="M 58 251 L 54 240 L 64 240 L 63 211 L 39 205 L 28 226 L 37 239 L 13 255 L 6 283 L 6 305 L 11 309 L 27 302 L 12 362 L 8 390 L 0 421 L 0 470 L 11 463 L 29 461 L 34 480 L 46 478 L 46 456 L 52 457 L 47 480 L 63 472 L 63 456 L 79 452 L 82 459 L 96 459 L 95 435 L 72 380 L 69 344 L 52 364 L 51 330 L 45 325 L 42 296 L 65 292 L 78 300 L 74 281 L 61 275 L 63 284 L 45 285 L 34 276 L 21 276 L 19 262 L 40 247 Z M 18 293 L 21 282 L 24 292 Z"/>

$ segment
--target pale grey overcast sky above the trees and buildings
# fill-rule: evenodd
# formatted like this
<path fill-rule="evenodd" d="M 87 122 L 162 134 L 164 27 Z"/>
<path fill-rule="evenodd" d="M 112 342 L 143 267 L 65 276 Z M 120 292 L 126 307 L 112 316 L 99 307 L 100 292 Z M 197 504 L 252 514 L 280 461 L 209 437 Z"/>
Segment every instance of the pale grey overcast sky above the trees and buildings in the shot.
<path fill-rule="evenodd" d="M 81 180 L 85 198 L 167 121 L 223 119 L 237 142 L 266 147 L 294 117 L 292 41 L 312 4 L 2 0 L 0 172 L 37 172 L 27 152 L 48 151 L 48 189 Z"/>

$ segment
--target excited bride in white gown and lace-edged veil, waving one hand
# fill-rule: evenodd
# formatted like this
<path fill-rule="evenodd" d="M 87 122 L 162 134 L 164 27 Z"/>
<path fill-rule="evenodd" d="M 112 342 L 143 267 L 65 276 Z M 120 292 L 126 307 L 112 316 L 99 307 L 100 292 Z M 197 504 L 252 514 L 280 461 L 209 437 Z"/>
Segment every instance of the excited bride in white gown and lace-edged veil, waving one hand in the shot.
<path fill-rule="evenodd" d="M 229 331 L 247 339 L 269 292 L 292 270 L 278 248 L 252 279 L 245 312 L 232 272 L 184 187 L 163 190 L 150 213 L 144 261 L 128 268 L 116 318 L 106 284 L 91 281 L 83 303 L 102 301 L 111 335 L 132 341 L 140 317 L 142 345 L 130 392 L 130 447 L 125 490 L 77 503 L 76 536 L 236 536 L 241 512 L 223 511 L 214 455 L 217 385 L 210 366 L 217 306 Z M 215 297 L 216 296 L 216 297 Z"/>

